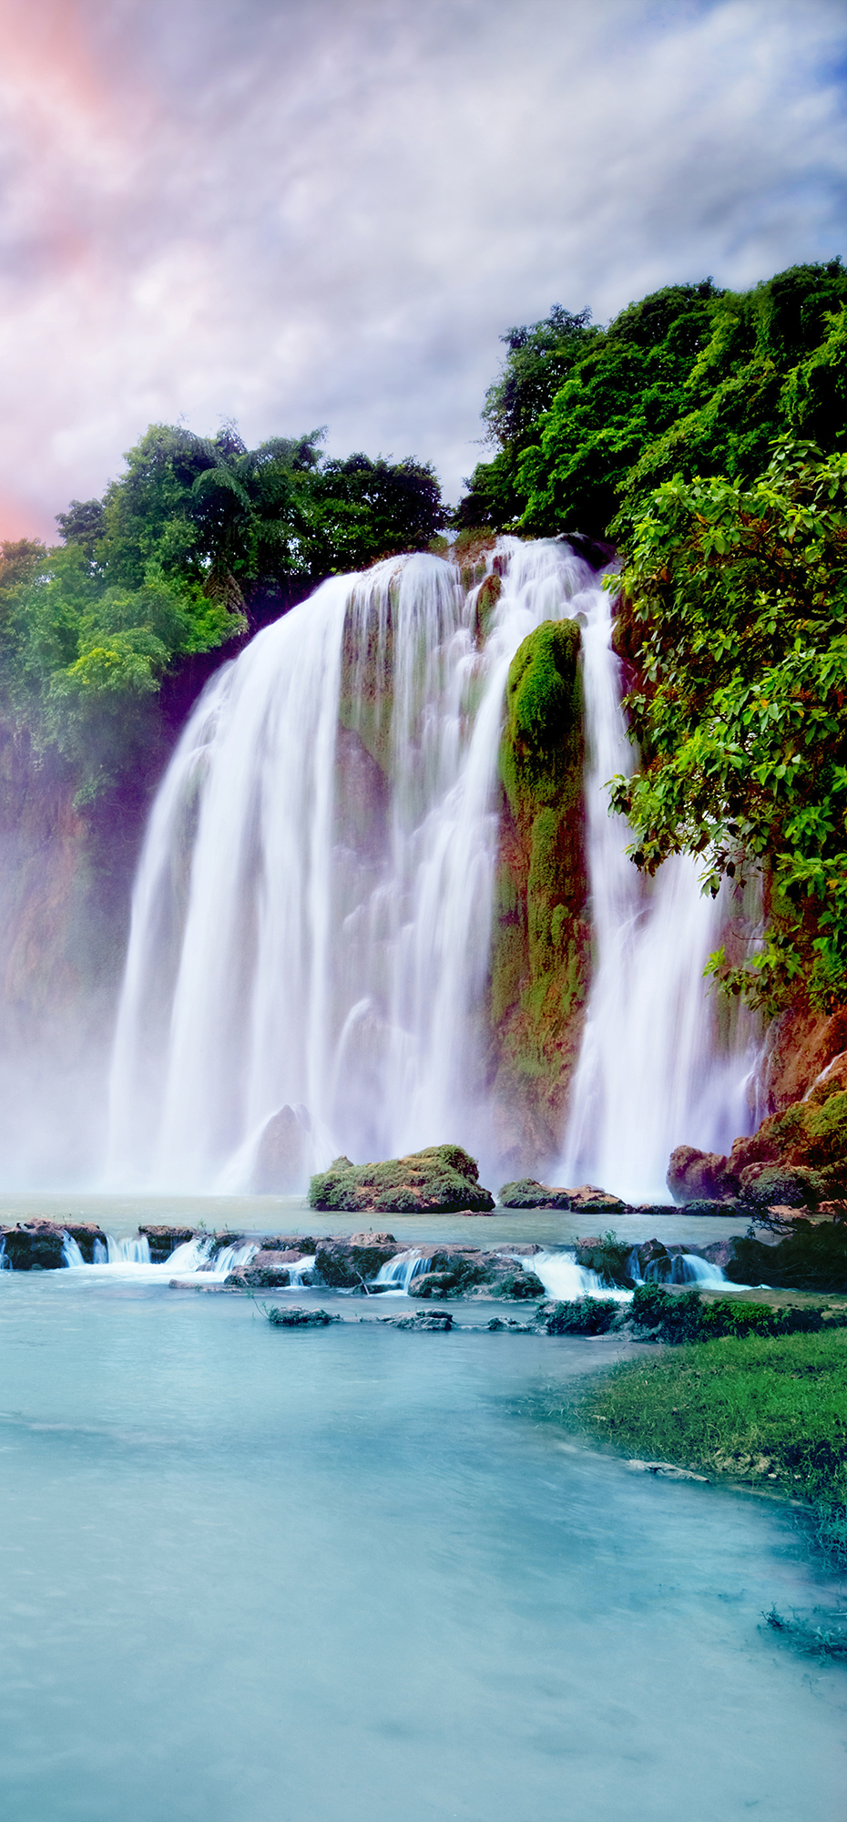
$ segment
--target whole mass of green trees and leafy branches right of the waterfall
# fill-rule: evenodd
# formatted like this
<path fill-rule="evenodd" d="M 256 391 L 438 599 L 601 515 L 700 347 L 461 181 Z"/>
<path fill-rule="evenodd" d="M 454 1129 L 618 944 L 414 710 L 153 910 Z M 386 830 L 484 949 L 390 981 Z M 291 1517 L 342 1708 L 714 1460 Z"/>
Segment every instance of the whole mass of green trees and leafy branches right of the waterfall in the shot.
<path fill-rule="evenodd" d="M 652 873 L 754 880 L 767 935 L 712 967 L 778 1011 L 847 998 L 847 271 L 710 279 L 608 328 L 512 328 L 483 419 L 497 452 L 457 523 L 612 539 L 639 747 L 614 804 Z M 617 587 L 617 585 L 616 585 Z"/>

